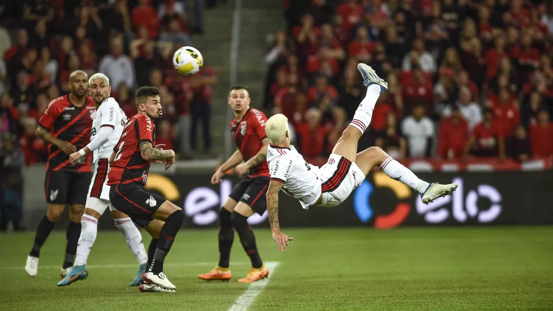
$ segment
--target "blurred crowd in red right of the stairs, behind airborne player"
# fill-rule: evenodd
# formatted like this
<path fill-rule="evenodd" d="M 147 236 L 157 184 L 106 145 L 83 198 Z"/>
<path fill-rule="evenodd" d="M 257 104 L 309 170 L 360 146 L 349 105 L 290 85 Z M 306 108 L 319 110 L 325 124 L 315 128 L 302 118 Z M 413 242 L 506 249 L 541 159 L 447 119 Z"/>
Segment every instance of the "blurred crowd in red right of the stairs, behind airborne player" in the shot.
<path fill-rule="evenodd" d="M 553 155 L 553 4 L 544 0 L 284 1 L 265 107 L 311 162 L 364 96 L 358 62 L 389 83 L 359 149 L 395 157 Z"/>

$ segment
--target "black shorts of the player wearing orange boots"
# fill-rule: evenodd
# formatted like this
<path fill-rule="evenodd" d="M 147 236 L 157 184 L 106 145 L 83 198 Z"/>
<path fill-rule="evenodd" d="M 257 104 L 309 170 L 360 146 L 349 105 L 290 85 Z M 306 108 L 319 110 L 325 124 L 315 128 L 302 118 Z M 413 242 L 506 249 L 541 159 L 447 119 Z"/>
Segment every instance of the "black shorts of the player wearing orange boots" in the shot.
<path fill-rule="evenodd" d="M 251 207 L 255 213 L 263 215 L 267 210 L 267 188 L 269 187 L 269 177 L 244 177 L 229 194 L 229 197 L 236 202 L 244 202 Z"/>

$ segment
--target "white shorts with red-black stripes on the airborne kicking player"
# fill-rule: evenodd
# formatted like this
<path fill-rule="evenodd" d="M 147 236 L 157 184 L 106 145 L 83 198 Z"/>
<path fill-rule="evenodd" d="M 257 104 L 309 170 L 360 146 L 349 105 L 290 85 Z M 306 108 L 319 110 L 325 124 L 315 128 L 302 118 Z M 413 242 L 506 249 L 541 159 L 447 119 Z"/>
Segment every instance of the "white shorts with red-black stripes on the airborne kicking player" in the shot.
<path fill-rule="evenodd" d="M 319 206 L 335 207 L 365 180 L 357 164 L 343 156 L 331 154 L 320 168 L 322 202 Z"/>

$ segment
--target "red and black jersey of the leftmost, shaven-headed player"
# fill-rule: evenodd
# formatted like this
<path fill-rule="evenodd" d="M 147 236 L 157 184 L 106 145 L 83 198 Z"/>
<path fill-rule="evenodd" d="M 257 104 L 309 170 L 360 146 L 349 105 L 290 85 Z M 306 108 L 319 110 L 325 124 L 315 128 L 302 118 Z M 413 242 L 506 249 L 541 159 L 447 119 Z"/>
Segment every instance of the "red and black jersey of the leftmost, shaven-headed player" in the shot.
<path fill-rule="evenodd" d="M 79 150 L 90 143 L 91 115 L 95 110 L 94 101 L 88 96 L 86 102 L 81 107 L 77 107 L 71 103 L 69 95 L 64 95 L 50 102 L 38 123 L 49 130 L 55 138 L 69 141 Z M 75 165 L 71 165 L 69 155 L 61 151 L 58 146 L 48 144 L 48 152 L 46 170 L 91 171 L 92 154 L 82 157 Z"/>

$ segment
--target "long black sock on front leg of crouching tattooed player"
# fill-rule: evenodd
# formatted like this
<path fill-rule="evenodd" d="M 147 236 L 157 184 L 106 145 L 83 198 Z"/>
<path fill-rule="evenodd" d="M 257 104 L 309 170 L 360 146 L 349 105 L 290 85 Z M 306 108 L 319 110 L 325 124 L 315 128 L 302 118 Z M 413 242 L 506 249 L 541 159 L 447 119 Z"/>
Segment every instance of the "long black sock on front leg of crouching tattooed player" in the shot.
<path fill-rule="evenodd" d="M 163 271 L 165 256 L 167 256 L 167 253 L 171 249 L 171 245 L 173 245 L 173 241 L 175 240 L 175 235 L 179 232 L 183 221 L 184 213 L 182 213 L 182 210 L 177 210 L 165 219 L 165 224 L 161 227 L 161 231 L 159 232 L 158 247 L 155 249 L 154 258 L 152 259 L 148 272 L 153 272 L 157 275 Z"/>

